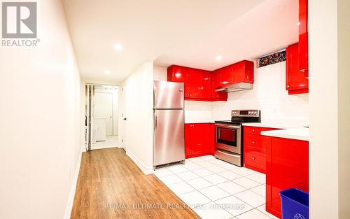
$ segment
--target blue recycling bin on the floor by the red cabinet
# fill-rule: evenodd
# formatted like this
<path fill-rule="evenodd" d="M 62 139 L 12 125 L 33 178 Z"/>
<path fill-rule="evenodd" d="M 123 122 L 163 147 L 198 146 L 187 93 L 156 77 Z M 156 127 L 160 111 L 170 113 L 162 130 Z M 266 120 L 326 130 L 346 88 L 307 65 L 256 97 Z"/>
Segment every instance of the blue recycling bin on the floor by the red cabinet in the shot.
<path fill-rule="evenodd" d="M 282 219 L 309 219 L 309 193 L 295 188 L 279 192 Z"/>

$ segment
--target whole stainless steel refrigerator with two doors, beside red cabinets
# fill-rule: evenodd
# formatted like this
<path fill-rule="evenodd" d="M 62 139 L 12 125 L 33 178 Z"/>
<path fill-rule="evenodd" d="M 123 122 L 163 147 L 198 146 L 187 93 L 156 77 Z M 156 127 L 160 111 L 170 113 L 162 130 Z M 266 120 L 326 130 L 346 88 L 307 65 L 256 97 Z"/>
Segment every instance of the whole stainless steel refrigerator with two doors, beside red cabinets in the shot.
<path fill-rule="evenodd" d="M 183 83 L 153 85 L 153 167 L 185 160 Z"/>

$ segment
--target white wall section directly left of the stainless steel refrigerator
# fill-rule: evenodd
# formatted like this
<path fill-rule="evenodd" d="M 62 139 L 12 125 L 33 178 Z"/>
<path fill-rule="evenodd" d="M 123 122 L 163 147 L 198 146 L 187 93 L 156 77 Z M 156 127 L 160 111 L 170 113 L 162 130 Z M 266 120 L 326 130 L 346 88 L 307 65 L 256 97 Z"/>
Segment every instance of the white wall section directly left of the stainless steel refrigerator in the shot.
<path fill-rule="evenodd" d="M 145 174 L 153 171 L 153 62 L 144 62 L 122 84 L 127 155 Z M 123 120 L 123 118 L 120 118 Z M 123 129 L 120 127 L 120 129 Z"/>

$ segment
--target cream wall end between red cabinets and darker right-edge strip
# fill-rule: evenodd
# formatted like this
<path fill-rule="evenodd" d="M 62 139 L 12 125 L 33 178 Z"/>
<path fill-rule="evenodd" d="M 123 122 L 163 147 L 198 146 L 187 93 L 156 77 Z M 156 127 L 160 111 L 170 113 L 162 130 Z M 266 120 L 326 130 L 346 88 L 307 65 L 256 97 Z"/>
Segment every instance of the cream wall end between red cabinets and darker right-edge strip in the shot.
<path fill-rule="evenodd" d="M 310 0 L 309 205 L 312 219 L 339 218 L 337 83 L 337 1 Z M 325 123 L 325 115 L 332 119 Z"/>

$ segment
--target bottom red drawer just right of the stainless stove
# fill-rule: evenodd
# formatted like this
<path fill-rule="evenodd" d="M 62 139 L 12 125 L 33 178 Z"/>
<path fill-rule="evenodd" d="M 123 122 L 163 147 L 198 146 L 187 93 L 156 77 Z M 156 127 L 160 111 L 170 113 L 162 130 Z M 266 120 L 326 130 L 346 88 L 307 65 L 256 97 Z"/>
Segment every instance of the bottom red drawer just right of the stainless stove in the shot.
<path fill-rule="evenodd" d="M 266 156 L 260 153 L 255 148 L 244 148 L 244 166 L 248 169 L 253 169 L 265 174 L 266 171 Z"/>

